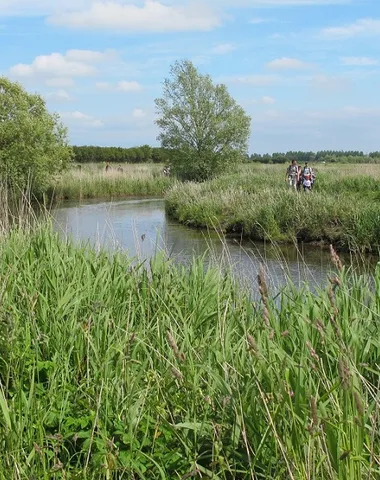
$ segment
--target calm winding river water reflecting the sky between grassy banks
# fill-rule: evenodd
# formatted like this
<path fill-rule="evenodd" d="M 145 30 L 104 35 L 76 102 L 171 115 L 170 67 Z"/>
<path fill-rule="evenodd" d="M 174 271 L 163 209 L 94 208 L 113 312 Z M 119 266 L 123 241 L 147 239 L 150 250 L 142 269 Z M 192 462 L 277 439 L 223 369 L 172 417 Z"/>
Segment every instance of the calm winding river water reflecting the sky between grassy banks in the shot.
<path fill-rule="evenodd" d="M 329 250 L 310 245 L 272 245 L 240 238 L 222 238 L 216 232 L 190 229 L 170 219 L 163 199 L 132 198 L 63 203 L 53 212 L 55 228 L 75 241 L 96 248 L 120 249 L 138 262 L 149 262 L 164 252 L 174 262 L 189 263 L 204 256 L 207 264 L 232 268 L 239 281 L 257 288 L 257 272 L 265 266 L 275 290 L 288 279 L 300 285 L 324 285 L 332 270 Z M 370 271 L 374 261 L 344 256 L 346 264 Z"/>

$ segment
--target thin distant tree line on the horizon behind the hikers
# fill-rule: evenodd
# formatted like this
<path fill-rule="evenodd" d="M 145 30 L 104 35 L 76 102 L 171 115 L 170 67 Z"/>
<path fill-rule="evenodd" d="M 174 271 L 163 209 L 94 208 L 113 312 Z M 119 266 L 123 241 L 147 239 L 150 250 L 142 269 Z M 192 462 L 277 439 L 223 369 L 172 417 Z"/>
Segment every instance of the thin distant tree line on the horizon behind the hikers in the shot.
<path fill-rule="evenodd" d="M 339 162 L 339 163 L 380 163 L 380 152 L 371 152 L 364 154 L 359 150 L 321 150 L 319 152 L 286 152 L 260 155 L 253 153 L 247 158 L 247 161 L 258 163 L 290 163 L 297 160 L 303 162 Z"/>

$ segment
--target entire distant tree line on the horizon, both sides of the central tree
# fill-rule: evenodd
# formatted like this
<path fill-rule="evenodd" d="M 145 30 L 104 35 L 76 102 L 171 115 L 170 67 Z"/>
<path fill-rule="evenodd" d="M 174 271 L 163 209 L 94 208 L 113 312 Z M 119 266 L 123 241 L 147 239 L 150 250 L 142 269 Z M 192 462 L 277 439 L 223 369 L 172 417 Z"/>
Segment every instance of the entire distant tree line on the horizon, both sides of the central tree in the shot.
<path fill-rule="evenodd" d="M 170 163 L 172 151 L 161 147 L 73 147 L 75 161 L 78 163 L 113 162 L 113 163 Z M 266 153 L 260 155 L 253 153 L 246 157 L 247 162 L 258 163 L 290 163 L 297 160 L 298 163 L 310 162 L 340 162 L 340 163 L 380 163 L 380 152 L 364 154 L 361 151 L 337 151 L 321 150 L 319 152 L 286 152 Z"/>

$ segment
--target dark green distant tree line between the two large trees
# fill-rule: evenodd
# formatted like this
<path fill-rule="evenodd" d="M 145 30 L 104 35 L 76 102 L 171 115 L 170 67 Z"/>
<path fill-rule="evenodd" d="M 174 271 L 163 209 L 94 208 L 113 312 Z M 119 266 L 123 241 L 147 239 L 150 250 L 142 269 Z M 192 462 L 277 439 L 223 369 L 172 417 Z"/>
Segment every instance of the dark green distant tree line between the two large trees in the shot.
<path fill-rule="evenodd" d="M 170 152 L 160 147 L 142 145 L 140 147 L 73 147 L 74 159 L 77 163 L 113 162 L 113 163 L 169 163 Z"/>

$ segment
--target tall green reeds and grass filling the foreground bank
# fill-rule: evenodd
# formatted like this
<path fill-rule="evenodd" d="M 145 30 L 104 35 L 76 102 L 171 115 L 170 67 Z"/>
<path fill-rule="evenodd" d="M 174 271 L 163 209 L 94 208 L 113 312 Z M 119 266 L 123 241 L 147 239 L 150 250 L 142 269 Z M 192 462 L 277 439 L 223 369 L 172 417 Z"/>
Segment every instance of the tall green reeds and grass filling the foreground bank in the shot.
<path fill-rule="evenodd" d="M 380 271 L 326 291 L 0 244 L 0 478 L 375 479 Z"/>

